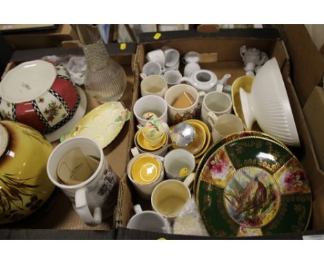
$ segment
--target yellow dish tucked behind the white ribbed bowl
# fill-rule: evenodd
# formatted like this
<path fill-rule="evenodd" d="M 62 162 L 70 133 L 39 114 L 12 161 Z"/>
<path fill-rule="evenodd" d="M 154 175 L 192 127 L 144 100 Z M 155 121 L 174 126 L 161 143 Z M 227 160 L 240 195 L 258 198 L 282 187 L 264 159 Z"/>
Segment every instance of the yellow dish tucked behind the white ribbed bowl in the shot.
<path fill-rule="evenodd" d="M 243 88 L 244 91 L 246 91 L 246 93 L 250 93 L 253 80 L 254 80 L 254 76 L 246 75 L 235 79 L 232 85 L 232 102 L 233 102 L 234 113 L 235 115 L 237 115 L 237 117 L 240 117 L 240 119 L 242 120 L 244 125 L 244 130 L 249 130 L 249 129 L 246 128 L 246 124 L 244 120 L 242 104 L 240 99 L 240 88 Z M 262 131 L 262 129 L 260 129 L 260 126 L 258 125 L 257 122 L 253 123 L 251 130 Z"/>

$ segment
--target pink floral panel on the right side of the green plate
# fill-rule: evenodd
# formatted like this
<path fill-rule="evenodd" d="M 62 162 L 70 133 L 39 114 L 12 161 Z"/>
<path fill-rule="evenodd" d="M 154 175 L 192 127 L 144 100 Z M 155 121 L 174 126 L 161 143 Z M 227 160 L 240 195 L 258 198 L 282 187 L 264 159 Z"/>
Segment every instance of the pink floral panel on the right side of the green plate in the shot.
<path fill-rule="evenodd" d="M 307 194 L 311 191 L 306 173 L 296 158 L 282 167 L 274 178 L 278 181 L 282 194 Z"/>

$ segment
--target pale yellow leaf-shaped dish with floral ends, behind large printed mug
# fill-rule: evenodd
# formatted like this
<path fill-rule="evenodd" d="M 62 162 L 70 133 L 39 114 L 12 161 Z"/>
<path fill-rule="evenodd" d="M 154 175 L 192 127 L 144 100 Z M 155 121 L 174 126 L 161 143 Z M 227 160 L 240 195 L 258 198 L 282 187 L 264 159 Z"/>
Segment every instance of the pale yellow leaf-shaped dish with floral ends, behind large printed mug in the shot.
<path fill-rule="evenodd" d="M 113 141 L 127 120 L 130 113 L 120 102 L 107 102 L 84 115 L 74 129 L 62 136 L 61 142 L 75 136 L 86 136 L 105 148 Z"/>

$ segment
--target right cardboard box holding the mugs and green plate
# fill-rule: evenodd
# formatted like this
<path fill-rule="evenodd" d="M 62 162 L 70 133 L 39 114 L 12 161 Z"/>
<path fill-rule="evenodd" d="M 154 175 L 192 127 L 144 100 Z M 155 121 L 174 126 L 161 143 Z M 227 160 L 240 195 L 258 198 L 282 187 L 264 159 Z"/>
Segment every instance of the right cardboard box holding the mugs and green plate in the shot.
<path fill-rule="evenodd" d="M 268 30 L 268 29 L 267 29 Z M 309 225 L 309 231 L 311 234 L 316 232 L 321 232 L 320 230 L 324 228 L 324 173 L 318 167 L 318 161 L 316 153 L 314 151 L 314 146 L 312 143 L 312 138 L 303 115 L 302 108 L 300 106 L 300 101 L 298 100 L 298 95 L 296 93 L 293 81 L 291 79 L 291 61 L 298 64 L 298 58 L 294 57 L 291 59 L 289 57 L 287 48 L 284 41 L 278 38 L 278 35 L 273 35 L 273 28 L 270 31 L 254 31 L 254 30 L 242 30 L 240 34 L 236 32 L 229 32 L 228 30 L 220 30 L 219 33 L 201 35 L 201 33 L 188 35 L 188 32 L 184 35 L 179 35 L 179 32 L 168 32 L 168 36 L 165 37 L 164 32 L 162 36 L 156 40 L 156 34 L 146 34 L 141 37 L 145 40 L 145 43 L 138 45 L 136 57 L 134 61 L 134 74 L 135 78 L 138 78 L 141 68 L 145 62 L 145 53 L 156 48 L 161 48 L 164 45 L 170 45 L 183 55 L 190 50 L 196 50 L 199 53 L 209 54 L 217 53 L 217 58 L 214 62 L 208 62 L 201 64 L 201 68 L 206 68 L 213 70 L 217 77 L 222 77 L 224 73 L 231 73 L 232 77 L 229 80 L 231 84 L 237 77 L 245 75 L 243 70 L 242 58 L 240 57 L 240 47 L 246 45 L 248 47 L 256 47 L 260 50 L 265 51 L 269 57 L 276 57 L 280 70 L 282 72 L 282 77 L 285 82 L 287 89 L 287 94 L 289 96 L 289 101 L 291 104 L 291 109 L 294 114 L 294 120 L 298 129 L 298 134 L 300 137 L 300 148 L 291 148 L 291 151 L 296 155 L 296 157 L 303 164 L 309 180 L 312 185 L 313 191 L 313 214 L 312 223 Z M 262 34 L 256 35 L 257 32 L 262 32 Z M 267 34 L 267 32 L 269 34 Z M 168 39 L 172 37 L 172 40 Z M 298 46 L 298 44 L 295 44 Z M 306 53 L 307 54 L 307 53 Z M 300 73 L 300 68 L 294 66 L 294 72 Z M 305 73 L 304 73 L 305 74 Z M 316 82 L 316 78 L 311 76 L 311 73 L 307 72 L 305 78 L 308 80 L 307 84 Z M 317 74 L 317 72 L 316 72 Z M 314 73 L 314 75 L 316 75 Z M 317 75 L 316 75 L 317 76 Z M 310 80 L 313 80 L 312 82 Z M 298 82 L 298 77 L 295 77 L 295 82 Z M 135 93 L 139 97 L 139 82 L 138 86 L 134 86 Z M 298 83 L 296 89 L 302 89 L 305 84 Z M 303 91 L 298 91 L 298 94 L 303 94 Z M 130 127 L 130 137 L 134 137 L 134 128 L 136 127 L 136 119 L 132 117 L 132 124 Z M 128 159 L 130 159 L 130 154 Z M 136 196 L 131 183 L 124 177 L 120 182 L 120 191 L 118 198 L 118 206 L 116 208 L 116 227 L 118 227 L 117 238 L 159 238 L 161 236 L 167 238 L 177 238 L 177 236 L 165 235 L 165 234 L 148 234 L 150 232 L 139 232 L 134 230 L 125 229 L 128 220 L 134 214 L 132 211 L 133 205 L 140 203 L 143 209 L 152 209 L 150 207 L 150 201 L 143 201 Z M 317 230 L 317 231 L 316 231 Z M 301 238 L 303 233 L 300 234 L 287 234 L 285 236 L 271 236 L 270 238 Z"/>

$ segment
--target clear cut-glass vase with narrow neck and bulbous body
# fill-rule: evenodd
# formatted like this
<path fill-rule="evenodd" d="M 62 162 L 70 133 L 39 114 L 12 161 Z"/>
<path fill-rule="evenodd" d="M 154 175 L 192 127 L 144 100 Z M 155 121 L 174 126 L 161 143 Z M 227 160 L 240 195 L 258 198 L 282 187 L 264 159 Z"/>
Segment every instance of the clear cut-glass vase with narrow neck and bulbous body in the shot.
<path fill-rule="evenodd" d="M 101 103 L 118 101 L 127 84 L 123 68 L 111 59 L 102 39 L 82 48 L 87 59 L 84 76 L 87 92 Z"/>

